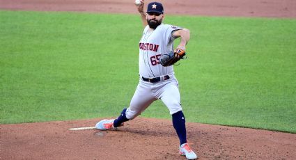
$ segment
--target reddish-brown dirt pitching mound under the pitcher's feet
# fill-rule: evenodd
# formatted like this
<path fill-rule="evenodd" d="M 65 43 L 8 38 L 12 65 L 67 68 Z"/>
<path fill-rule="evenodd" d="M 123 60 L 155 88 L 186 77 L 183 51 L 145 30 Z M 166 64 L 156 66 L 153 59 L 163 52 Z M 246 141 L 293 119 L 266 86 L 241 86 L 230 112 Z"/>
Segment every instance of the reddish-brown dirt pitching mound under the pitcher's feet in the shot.
<path fill-rule="evenodd" d="M 112 131 L 100 119 L 1 127 L 1 159 L 185 159 L 171 120 L 136 118 Z M 200 159 L 295 159 L 296 134 L 187 123 L 189 145 Z"/>

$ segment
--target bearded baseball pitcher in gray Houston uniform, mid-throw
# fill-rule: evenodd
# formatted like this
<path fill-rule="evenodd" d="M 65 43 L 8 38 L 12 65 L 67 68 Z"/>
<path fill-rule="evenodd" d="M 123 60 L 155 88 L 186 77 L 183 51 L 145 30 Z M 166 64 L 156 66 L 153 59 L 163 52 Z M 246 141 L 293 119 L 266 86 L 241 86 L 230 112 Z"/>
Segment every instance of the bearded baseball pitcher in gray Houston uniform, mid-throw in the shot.
<path fill-rule="evenodd" d="M 130 101 L 115 120 L 101 120 L 95 127 L 107 130 L 123 126 L 123 122 L 132 120 L 141 114 L 157 99 L 169 109 L 173 127 L 180 140 L 179 152 L 187 159 L 196 159 L 196 154 L 187 143 L 185 116 L 180 104 L 178 81 L 173 65 L 185 56 L 185 47 L 190 38 L 188 29 L 163 24 L 164 8 L 162 3 L 148 3 L 147 12 L 143 12 L 144 0 L 136 3 L 144 30 L 139 41 L 139 84 Z M 139 2 L 140 1 L 140 2 Z M 180 38 L 176 49 L 173 41 Z"/>

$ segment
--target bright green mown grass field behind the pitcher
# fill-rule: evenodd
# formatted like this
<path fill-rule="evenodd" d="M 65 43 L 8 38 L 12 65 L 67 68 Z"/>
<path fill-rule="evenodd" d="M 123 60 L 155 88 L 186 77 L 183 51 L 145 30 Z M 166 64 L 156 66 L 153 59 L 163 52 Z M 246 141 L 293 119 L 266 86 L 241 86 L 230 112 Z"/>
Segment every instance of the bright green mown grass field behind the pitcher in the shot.
<path fill-rule="evenodd" d="M 187 122 L 296 133 L 296 19 L 176 17 Z M 116 117 L 139 81 L 139 15 L 0 11 L 0 123 Z M 162 102 L 141 116 L 168 118 Z"/>

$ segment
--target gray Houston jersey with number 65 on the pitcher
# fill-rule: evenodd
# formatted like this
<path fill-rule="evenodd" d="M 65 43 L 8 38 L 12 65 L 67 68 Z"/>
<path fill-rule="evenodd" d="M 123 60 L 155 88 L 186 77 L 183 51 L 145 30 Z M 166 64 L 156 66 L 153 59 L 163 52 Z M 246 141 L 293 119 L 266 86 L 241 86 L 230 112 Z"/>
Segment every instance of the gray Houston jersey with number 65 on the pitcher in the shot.
<path fill-rule="evenodd" d="M 159 63 L 162 54 L 173 51 L 173 31 L 180 30 L 178 26 L 160 24 L 154 31 L 147 25 L 139 42 L 139 74 L 140 77 L 153 78 L 173 75 L 173 66 L 164 67 Z"/>

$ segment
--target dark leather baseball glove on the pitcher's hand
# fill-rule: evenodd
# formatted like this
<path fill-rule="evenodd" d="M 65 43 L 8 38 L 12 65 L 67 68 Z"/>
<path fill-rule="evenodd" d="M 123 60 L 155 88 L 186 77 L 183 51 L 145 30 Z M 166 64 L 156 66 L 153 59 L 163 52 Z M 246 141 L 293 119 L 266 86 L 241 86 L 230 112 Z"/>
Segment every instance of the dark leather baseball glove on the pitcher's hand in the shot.
<path fill-rule="evenodd" d="M 186 52 L 184 50 L 176 48 L 174 51 L 169 52 L 169 54 L 162 54 L 162 56 L 160 56 L 159 62 L 164 67 L 167 67 L 170 65 L 174 65 L 185 55 Z"/>

